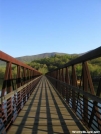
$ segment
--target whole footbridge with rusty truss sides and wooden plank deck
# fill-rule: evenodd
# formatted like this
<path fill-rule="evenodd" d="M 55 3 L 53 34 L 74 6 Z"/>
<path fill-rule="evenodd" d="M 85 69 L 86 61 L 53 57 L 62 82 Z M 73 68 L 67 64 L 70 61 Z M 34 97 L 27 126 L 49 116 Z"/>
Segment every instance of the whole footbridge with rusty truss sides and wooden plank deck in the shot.
<path fill-rule="evenodd" d="M 0 51 L 0 134 L 100 134 L 101 76 L 89 68 L 99 57 L 101 47 L 43 75 Z"/>

